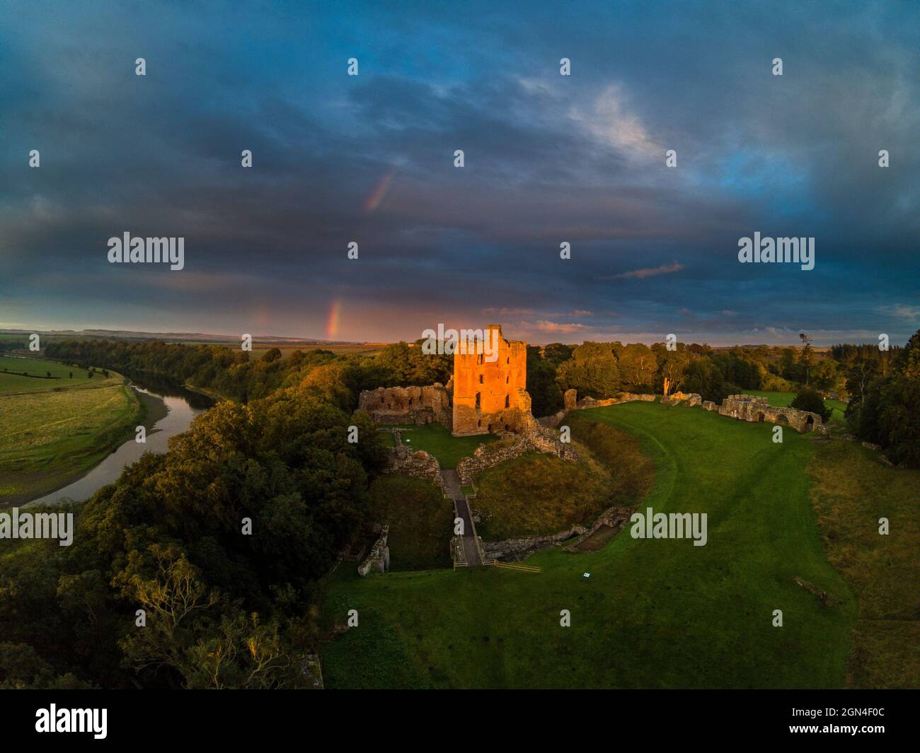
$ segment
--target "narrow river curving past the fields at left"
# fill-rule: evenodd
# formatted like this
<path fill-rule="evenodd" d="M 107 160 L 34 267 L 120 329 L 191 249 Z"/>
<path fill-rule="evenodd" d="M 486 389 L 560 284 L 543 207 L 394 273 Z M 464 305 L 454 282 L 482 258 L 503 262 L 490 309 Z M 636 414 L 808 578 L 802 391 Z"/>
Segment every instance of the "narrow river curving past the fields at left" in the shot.
<path fill-rule="evenodd" d="M 167 439 L 181 434 L 189 428 L 192 418 L 214 404 L 214 401 L 207 395 L 192 392 L 185 387 L 150 375 L 132 375 L 131 387 L 148 405 L 148 410 L 152 415 L 160 414 L 162 408 L 166 408 L 166 416 L 158 418 L 152 427 L 147 427 L 146 442 L 142 444 L 133 438 L 128 439 L 118 450 L 107 455 L 95 468 L 73 484 L 63 486 L 49 495 L 33 499 L 20 507 L 55 505 L 69 500 L 86 501 L 98 489 L 114 482 L 121 475 L 125 466 L 140 460 L 144 452 L 166 452 Z M 157 403 L 162 405 L 156 405 Z"/>

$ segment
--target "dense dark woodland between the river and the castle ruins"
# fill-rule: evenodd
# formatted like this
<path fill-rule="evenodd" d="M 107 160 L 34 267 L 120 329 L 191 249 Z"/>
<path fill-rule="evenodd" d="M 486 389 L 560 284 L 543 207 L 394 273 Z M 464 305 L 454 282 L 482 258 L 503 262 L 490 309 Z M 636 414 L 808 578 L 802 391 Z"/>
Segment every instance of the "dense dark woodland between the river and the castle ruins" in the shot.
<path fill-rule="evenodd" d="M 227 383 L 222 364 L 250 399 L 215 405 L 166 454 L 145 454 L 75 508 L 72 546 L 3 542 L 0 687 L 307 685 L 316 582 L 369 522 L 367 488 L 385 462 L 373 423 L 351 414 L 356 390 L 397 377 L 374 359 L 316 351 L 267 354 L 271 369 L 166 344 L 48 355 L 211 388 Z M 286 386 L 251 399 L 268 374 Z"/>

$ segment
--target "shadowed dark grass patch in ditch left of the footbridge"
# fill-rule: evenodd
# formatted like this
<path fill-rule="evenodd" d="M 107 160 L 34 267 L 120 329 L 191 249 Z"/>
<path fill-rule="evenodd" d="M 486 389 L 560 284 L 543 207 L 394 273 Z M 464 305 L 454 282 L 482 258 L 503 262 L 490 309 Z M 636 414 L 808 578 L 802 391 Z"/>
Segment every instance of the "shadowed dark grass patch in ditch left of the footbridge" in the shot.
<path fill-rule="evenodd" d="M 412 476 L 384 475 L 370 489 L 371 516 L 387 522 L 392 570 L 451 567 L 454 504 L 440 487 Z"/>

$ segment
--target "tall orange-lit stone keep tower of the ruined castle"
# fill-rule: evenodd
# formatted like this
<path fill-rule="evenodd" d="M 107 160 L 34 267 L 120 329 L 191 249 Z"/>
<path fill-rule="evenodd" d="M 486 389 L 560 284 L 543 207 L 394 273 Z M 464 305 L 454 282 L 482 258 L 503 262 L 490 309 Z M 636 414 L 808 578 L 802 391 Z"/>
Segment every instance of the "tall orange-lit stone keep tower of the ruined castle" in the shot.
<path fill-rule="evenodd" d="M 530 417 L 527 394 L 527 344 L 506 340 L 501 325 L 483 333 L 492 342 L 498 334 L 498 359 L 485 353 L 454 352 L 454 436 L 520 431 Z"/>

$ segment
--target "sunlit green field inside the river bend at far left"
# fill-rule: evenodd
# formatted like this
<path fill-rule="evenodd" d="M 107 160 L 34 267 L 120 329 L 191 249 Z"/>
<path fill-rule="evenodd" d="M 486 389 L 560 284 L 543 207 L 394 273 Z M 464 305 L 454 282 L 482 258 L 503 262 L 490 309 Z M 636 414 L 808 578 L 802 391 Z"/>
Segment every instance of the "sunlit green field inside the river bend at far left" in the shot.
<path fill-rule="evenodd" d="M 0 358 L 5 367 L 61 378 L 0 373 L 0 508 L 79 478 L 144 420 L 144 407 L 115 372 L 87 379 L 86 370 L 51 361 Z"/>

